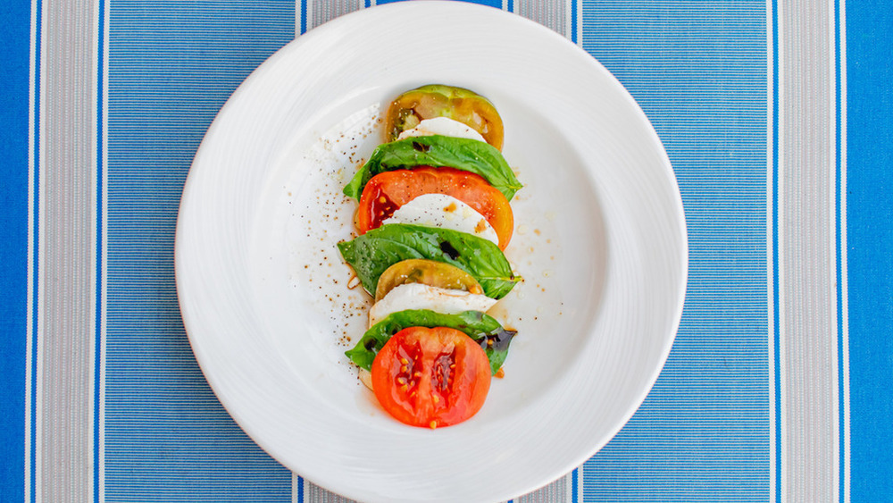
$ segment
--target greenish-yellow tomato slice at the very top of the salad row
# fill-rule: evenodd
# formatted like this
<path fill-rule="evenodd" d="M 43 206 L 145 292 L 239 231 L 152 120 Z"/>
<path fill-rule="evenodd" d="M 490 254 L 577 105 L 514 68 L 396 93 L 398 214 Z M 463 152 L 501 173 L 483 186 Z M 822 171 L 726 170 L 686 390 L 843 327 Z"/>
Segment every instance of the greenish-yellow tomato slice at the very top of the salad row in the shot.
<path fill-rule="evenodd" d="M 478 131 L 488 144 L 502 150 L 505 133 L 496 107 L 474 91 L 439 84 L 411 89 L 396 97 L 388 107 L 385 141 L 394 141 L 404 130 L 435 117 L 463 122 Z"/>

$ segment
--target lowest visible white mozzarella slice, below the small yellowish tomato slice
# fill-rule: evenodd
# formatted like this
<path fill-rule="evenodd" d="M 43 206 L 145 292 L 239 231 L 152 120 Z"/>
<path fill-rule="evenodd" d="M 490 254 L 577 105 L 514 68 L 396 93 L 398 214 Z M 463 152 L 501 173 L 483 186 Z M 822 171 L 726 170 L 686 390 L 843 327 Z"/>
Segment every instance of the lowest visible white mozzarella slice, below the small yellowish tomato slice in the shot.
<path fill-rule="evenodd" d="M 463 311 L 486 313 L 496 304 L 496 299 L 463 290 L 442 289 L 421 283 L 397 285 L 369 310 L 369 326 L 379 323 L 388 314 L 407 309 L 430 309 L 442 314 L 459 314 Z"/>

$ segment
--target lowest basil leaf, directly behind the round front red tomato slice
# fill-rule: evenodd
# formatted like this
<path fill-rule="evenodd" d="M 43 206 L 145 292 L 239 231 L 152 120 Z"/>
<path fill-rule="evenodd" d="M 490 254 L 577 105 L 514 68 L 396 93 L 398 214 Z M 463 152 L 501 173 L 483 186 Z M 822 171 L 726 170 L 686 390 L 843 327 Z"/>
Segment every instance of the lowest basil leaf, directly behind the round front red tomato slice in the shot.
<path fill-rule="evenodd" d="M 490 372 L 497 373 L 508 355 L 508 346 L 517 331 L 505 330 L 496 319 L 478 311 L 459 314 L 441 314 L 429 309 L 411 309 L 388 314 L 363 334 L 363 338 L 345 355 L 356 365 L 371 370 L 372 361 L 385 343 L 409 327 L 447 327 L 462 331 L 484 348 L 490 361 Z"/>

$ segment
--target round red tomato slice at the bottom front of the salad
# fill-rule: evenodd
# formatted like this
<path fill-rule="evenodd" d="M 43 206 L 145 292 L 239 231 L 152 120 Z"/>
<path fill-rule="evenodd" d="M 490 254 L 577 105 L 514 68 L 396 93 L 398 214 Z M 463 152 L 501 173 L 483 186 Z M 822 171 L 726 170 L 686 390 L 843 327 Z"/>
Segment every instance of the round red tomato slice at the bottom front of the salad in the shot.
<path fill-rule="evenodd" d="M 401 423 L 437 428 L 462 423 L 490 389 L 487 354 L 472 338 L 446 327 L 398 331 L 372 362 L 372 390 Z"/>

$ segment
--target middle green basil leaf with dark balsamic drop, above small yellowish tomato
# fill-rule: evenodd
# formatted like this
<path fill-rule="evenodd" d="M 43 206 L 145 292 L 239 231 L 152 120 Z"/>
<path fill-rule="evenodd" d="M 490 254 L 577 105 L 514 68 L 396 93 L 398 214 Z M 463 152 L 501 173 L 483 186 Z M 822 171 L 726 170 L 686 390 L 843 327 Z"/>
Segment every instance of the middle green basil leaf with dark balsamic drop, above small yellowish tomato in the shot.
<path fill-rule="evenodd" d="M 374 295 L 382 272 L 410 258 L 455 265 L 471 274 L 489 298 L 504 298 L 521 281 L 497 245 L 449 229 L 388 223 L 352 241 L 338 243 L 338 250 L 370 295 Z"/>

